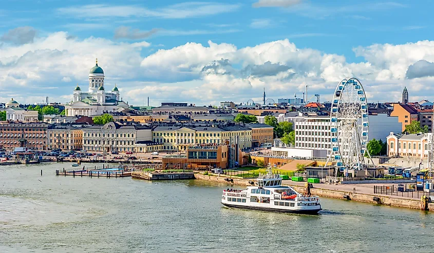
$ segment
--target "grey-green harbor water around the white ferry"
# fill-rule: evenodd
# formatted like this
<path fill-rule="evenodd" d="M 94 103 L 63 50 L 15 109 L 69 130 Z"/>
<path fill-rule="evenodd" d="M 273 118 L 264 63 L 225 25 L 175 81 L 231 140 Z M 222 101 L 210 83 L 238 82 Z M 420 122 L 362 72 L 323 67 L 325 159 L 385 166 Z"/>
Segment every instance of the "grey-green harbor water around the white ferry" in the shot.
<path fill-rule="evenodd" d="M 0 252 L 434 250 L 430 212 L 327 198 L 318 216 L 229 209 L 227 185 L 56 177 L 63 167 L 0 167 Z"/>

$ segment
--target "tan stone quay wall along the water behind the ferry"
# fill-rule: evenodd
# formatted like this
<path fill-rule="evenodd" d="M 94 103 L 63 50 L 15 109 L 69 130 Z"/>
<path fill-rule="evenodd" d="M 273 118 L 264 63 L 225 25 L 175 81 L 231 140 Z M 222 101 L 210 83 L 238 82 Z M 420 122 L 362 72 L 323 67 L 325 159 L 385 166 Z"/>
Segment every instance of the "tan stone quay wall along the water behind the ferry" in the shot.
<path fill-rule="evenodd" d="M 251 186 L 252 184 L 249 181 L 253 181 L 252 179 L 240 179 L 234 177 L 222 177 L 222 176 L 213 176 L 213 175 L 203 175 L 200 173 L 195 173 L 195 178 L 198 180 L 211 181 L 217 183 L 225 183 L 231 185 L 240 185 L 240 186 Z M 227 179 L 232 179 L 230 182 Z M 305 187 L 295 184 L 282 184 L 283 186 L 290 186 L 294 188 L 296 191 L 305 193 Z M 387 206 L 395 206 L 395 207 L 406 207 L 410 209 L 419 209 L 421 210 L 421 200 L 409 199 L 409 198 L 400 198 L 399 196 L 388 196 L 383 194 L 370 194 L 370 193 L 358 193 L 353 191 L 344 191 L 344 190 L 336 190 L 336 189 L 326 189 L 326 188 L 318 188 L 314 187 L 310 189 L 313 195 L 317 195 L 319 197 L 327 197 L 333 199 L 342 199 L 342 200 L 351 200 L 365 203 L 373 203 Z M 345 196 L 345 197 L 344 197 Z M 374 200 L 375 198 L 375 200 Z M 434 211 L 434 203 L 428 203 L 428 210 Z"/>

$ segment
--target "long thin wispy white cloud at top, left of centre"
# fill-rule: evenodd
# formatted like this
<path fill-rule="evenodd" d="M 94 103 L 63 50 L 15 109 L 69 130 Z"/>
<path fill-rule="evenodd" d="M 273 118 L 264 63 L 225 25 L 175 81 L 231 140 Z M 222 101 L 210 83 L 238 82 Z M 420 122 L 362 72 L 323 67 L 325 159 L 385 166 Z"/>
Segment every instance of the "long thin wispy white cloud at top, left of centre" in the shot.
<path fill-rule="evenodd" d="M 241 5 L 205 2 L 186 2 L 159 9 L 147 9 L 133 5 L 84 5 L 57 9 L 61 15 L 74 17 L 160 17 L 188 18 L 233 12 Z"/>

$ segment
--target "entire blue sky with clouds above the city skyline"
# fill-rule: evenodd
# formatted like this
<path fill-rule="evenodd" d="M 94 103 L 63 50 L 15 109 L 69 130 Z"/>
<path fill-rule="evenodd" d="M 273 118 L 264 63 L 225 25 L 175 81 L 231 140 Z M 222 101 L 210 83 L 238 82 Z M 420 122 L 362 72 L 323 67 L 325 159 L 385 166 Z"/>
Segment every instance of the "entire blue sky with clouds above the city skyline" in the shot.
<path fill-rule="evenodd" d="M 66 103 L 99 66 L 130 105 L 434 100 L 434 2 L 14 0 L 0 6 L 0 102 Z"/>

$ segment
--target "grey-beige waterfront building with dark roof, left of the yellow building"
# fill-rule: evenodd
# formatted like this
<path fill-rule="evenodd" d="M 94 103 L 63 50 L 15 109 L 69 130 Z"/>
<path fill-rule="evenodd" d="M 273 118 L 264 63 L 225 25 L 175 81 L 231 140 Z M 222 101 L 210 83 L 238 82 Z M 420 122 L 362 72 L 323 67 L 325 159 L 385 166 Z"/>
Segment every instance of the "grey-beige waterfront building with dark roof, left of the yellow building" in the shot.
<path fill-rule="evenodd" d="M 83 128 L 83 149 L 88 151 L 135 151 L 137 142 L 150 140 L 152 130 L 135 122 L 109 122 Z"/>

